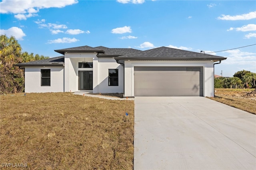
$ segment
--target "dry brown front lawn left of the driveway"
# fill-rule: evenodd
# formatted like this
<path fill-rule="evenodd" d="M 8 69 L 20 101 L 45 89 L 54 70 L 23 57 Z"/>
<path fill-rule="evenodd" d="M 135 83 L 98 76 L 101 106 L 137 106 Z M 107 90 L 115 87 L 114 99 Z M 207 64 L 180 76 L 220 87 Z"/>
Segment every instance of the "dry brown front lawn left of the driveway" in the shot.
<path fill-rule="evenodd" d="M 133 101 L 17 93 L 0 96 L 0 103 L 0 164 L 133 169 Z"/>

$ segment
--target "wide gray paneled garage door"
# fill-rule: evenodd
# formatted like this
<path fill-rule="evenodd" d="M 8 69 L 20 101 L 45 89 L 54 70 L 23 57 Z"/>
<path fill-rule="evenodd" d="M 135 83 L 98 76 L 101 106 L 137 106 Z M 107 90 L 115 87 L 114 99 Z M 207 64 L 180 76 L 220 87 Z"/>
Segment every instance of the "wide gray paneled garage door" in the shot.
<path fill-rule="evenodd" d="M 135 96 L 203 96 L 202 67 L 134 67 Z"/>

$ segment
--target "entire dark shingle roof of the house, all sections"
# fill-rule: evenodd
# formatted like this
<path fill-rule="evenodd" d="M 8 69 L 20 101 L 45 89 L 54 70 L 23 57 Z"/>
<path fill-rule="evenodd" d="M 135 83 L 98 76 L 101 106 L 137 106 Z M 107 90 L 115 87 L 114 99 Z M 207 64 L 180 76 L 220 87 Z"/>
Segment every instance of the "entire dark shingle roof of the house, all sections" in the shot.
<path fill-rule="evenodd" d="M 74 50 L 75 49 L 75 50 Z M 169 47 L 158 47 L 140 51 L 132 48 L 107 48 L 99 47 L 74 47 L 60 50 L 54 50 L 63 54 L 69 52 L 98 52 L 98 57 L 114 57 L 116 60 L 224 60 L 226 57 L 216 55 L 209 55 L 204 53 L 197 53 L 181 49 L 174 49 Z M 49 59 L 42 59 L 37 61 L 30 61 L 28 63 L 18 63 L 16 66 L 64 66 L 64 56 L 53 57 Z"/>

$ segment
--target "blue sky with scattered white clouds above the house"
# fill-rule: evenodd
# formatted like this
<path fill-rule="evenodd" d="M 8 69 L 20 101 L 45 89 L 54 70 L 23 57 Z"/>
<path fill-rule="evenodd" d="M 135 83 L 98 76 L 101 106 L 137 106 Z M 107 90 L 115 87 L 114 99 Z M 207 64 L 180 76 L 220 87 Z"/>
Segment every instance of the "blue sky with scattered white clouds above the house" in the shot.
<path fill-rule="evenodd" d="M 50 57 L 83 45 L 207 53 L 256 44 L 255 0 L 0 0 L 0 15 L 1 34 Z M 217 75 L 256 73 L 256 45 L 210 54 L 228 57 Z"/>

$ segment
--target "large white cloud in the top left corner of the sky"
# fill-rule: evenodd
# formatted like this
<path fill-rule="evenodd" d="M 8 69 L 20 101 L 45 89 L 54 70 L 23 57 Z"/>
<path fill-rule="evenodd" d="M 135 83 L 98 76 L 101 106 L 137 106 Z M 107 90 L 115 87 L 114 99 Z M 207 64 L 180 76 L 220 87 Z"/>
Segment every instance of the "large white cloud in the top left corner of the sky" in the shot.
<path fill-rule="evenodd" d="M 68 5 L 76 4 L 78 0 L 2 0 L 0 2 L 2 14 L 16 14 L 18 20 L 37 16 L 37 12 L 44 8 L 63 8 Z"/>

